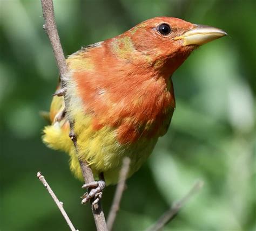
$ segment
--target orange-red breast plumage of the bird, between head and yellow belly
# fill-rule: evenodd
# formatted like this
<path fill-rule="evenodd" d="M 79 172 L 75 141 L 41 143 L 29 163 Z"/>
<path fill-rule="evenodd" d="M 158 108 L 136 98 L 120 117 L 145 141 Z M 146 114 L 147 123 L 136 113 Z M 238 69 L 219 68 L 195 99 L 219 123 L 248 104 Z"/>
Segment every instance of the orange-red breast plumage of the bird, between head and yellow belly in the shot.
<path fill-rule="evenodd" d="M 85 60 L 96 66 L 93 57 Z M 85 115 L 91 115 L 93 129 L 114 128 L 121 144 L 162 136 L 171 121 L 175 107 L 171 79 L 156 77 L 155 70 L 144 64 L 108 57 L 102 59 L 102 68 L 72 72 L 76 86 L 72 92 Z"/>

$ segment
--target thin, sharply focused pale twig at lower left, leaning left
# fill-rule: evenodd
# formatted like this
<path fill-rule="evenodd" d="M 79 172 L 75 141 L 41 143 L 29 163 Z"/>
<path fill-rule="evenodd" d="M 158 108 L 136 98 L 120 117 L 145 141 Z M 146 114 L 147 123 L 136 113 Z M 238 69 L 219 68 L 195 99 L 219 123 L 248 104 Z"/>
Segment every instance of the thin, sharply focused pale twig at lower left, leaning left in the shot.
<path fill-rule="evenodd" d="M 63 202 L 60 202 L 58 200 L 58 198 L 56 197 L 55 193 L 52 191 L 50 185 L 47 183 L 46 179 L 44 178 L 44 176 L 42 175 L 41 172 L 37 173 L 37 178 L 42 182 L 42 184 L 44 185 L 44 187 L 46 187 L 46 189 L 48 190 L 48 192 L 50 193 L 52 199 L 55 201 L 56 205 L 58 206 L 60 213 L 62 213 L 62 215 L 64 216 L 64 219 L 66 220 L 66 222 L 68 223 L 68 226 L 70 227 L 71 231 L 78 231 L 78 229 L 76 229 L 71 220 L 69 219 L 68 214 L 66 214 L 65 209 L 63 208 Z"/>

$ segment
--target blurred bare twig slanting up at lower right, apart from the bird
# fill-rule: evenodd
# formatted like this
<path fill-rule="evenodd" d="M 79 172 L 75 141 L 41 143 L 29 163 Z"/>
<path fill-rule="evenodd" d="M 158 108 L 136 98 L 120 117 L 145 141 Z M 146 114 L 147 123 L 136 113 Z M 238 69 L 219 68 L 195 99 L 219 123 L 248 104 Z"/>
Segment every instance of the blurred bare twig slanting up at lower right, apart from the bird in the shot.
<path fill-rule="evenodd" d="M 181 200 L 176 202 L 168 209 L 163 215 L 160 216 L 158 221 L 154 223 L 153 226 L 148 228 L 146 231 L 158 231 L 161 230 L 168 222 L 170 222 L 179 212 L 180 208 L 183 207 L 186 202 L 195 194 L 197 193 L 201 187 L 203 187 L 204 182 L 202 180 L 198 180 L 191 190 L 183 197 Z"/>

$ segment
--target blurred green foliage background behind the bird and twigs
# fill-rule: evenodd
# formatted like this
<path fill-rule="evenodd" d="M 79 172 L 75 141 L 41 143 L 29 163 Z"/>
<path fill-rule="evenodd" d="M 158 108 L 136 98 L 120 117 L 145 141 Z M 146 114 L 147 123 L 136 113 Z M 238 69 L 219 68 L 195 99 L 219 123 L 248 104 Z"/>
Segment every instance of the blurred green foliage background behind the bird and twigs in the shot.
<path fill-rule="evenodd" d="M 114 230 L 143 230 L 203 179 L 203 189 L 165 230 L 255 230 L 256 2 L 224 0 L 55 1 L 65 54 L 156 16 L 225 30 L 173 76 L 177 108 L 168 134 L 127 181 Z M 75 227 L 93 230 L 90 206 L 68 156 L 41 142 L 57 83 L 39 0 L 1 1 L 1 223 L 4 231 L 68 230 L 36 178 L 42 171 Z M 114 186 L 104 191 L 105 214 Z"/>

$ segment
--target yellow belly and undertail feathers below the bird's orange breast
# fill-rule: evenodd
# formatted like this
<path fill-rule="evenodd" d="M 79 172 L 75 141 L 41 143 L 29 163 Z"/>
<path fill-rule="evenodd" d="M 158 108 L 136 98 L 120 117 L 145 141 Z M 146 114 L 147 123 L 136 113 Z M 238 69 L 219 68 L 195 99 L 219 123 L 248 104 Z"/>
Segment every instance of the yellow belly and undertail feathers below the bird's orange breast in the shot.
<path fill-rule="evenodd" d="M 100 172 L 104 173 L 106 184 L 116 184 L 120 167 L 125 156 L 130 157 L 131 165 L 129 177 L 145 162 L 157 142 L 156 138 L 139 138 L 132 144 L 119 144 L 116 129 L 103 127 L 97 131 L 92 128 L 92 119 L 89 115 L 76 111 L 75 134 L 79 148 L 78 157 L 90 164 L 95 178 Z M 69 138 L 69 129 L 62 129 L 61 122 L 45 127 L 43 141 L 50 148 L 68 152 L 70 168 L 75 176 L 83 180 L 78 158 Z"/>

